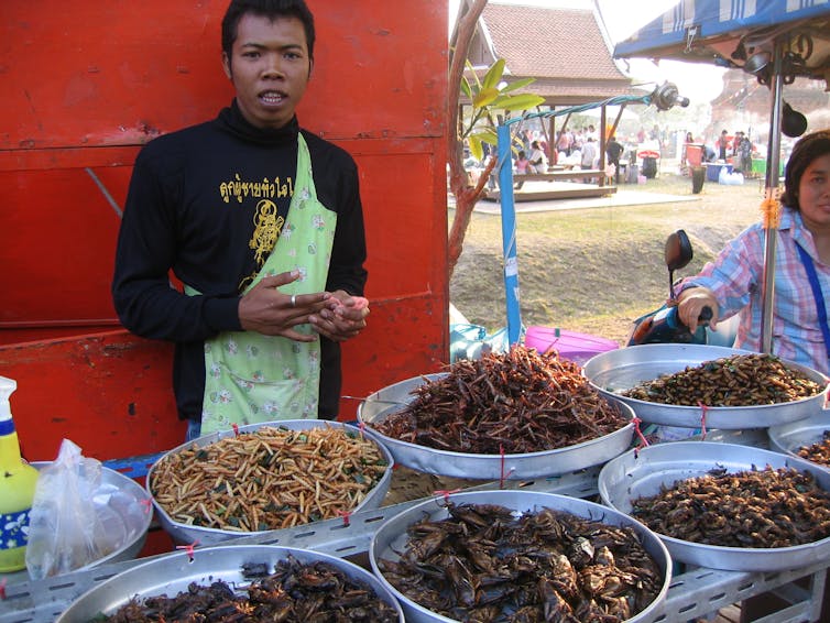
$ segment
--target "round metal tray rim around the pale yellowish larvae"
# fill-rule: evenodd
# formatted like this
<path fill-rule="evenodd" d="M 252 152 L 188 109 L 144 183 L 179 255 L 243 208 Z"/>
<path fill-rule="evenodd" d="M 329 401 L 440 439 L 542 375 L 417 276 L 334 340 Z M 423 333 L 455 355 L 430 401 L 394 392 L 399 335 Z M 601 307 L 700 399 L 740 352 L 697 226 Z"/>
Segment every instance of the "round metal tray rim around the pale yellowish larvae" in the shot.
<path fill-rule="evenodd" d="M 376 509 L 383 502 L 383 499 L 386 496 L 386 493 L 389 492 L 389 489 L 392 484 L 392 468 L 394 467 L 395 461 L 392 453 L 380 440 L 380 436 L 376 435 L 373 430 L 361 431 L 359 428 L 354 426 L 350 426 L 341 422 L 329 422 L 325 419 L 285 419 L 285 420 L 280 420 L 280 422 L 264 422 L 260 424 L 249 424 L 247 426 L 240 426 L 239 433 L 240 434 L 252 433 L 264 426 L 282 427 L 282 428 L 288 428 L 291 430 L 309 430 L 312 428 L 329 426 L 332 428 L 345 428 L 345 429 L 353 431 L 356 435 L 360 435 L 361 433 L 364 434 L 378 446 L 378 448 L 381 450 L 381 453 L 383 455 L 383 458 L 386 460 L 389 464 L 386 466 L 386 470 L 384 471 L 383 477 L 381 478 L 380 482 L 375 484 L 374 489 L 372 489 L 367 494 L 365 499 L 360 504 L 358 504 L 354 509 L 352 509 L 352 512 L 369 510 L 369 509 Z M 226 437 L 231 437 L 233 435 L 236 435 L 233 430 L 219 430 L 216 433 L 211 433 L 209 435 L 205 435 L 204 437 L 199 437 L 198 439 L 188 441 L 186 444 L 182 444 L 181 446 L 173 448 L 170 452 L 166 452 L 165 455 L 160 457 L 159 460 L 162 460 L 164 457 L 168 455 L 173 455 L 175 452 L 179 452 L 182 450 L 190 448 L 193 445 L 195 445 L 198 448 L 203 448 L 205 446 L 214 444 Z M 156 464 L 159 464 L 157 461 L 153 464 L 153 467 L 150 468 L 150 470 L 148 471 L 148 477 L 146 477 L 146 491 L 151 498 L 153 496 L 153 494 L 150 490 L 150 483 L 152 482 L 153 471 L 155 470 Z M 240 536 L 248 536 L 252 534 L 265 534 L 267 532 L 272 532 L 272 531 L 233 532 L 233 531 L 223 531 L 219 528 L 193 526 L 193 525 L 184 524 L 182 522 L 176 522 L 175 520 L 173 520 L 173 517 L 171 517 L 167 514 L 167 512 L 161 506 L 161 504 L 159 504 L 155 501 L 154 498 L 153 498 L 153 505 L 155 506 L 155 515 L 156 515 L 156 518 L 159 520 L 159 524 L 164 528 L 164 531 L 167 534 L 170 534 L 171 538 L 177 544 L 190 544 L 198 540 L 199 544 L 204 546 L 218 545 L 225 540 L 228 540 L 231 538 L 238 538 Z"/>

